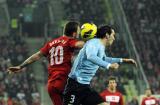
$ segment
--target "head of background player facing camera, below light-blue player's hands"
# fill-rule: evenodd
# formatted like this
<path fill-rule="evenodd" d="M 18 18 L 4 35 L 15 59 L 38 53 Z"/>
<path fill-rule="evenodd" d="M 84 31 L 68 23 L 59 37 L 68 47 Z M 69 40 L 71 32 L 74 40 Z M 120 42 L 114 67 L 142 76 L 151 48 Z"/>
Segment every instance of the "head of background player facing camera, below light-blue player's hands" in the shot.
<path fill-rule="evenodd" d="M 107 80 L 107 83 L 108 83 L 108 88 L 110 90 L 116 90 L 117 87 L 116 77 L 110 76 Z"/>

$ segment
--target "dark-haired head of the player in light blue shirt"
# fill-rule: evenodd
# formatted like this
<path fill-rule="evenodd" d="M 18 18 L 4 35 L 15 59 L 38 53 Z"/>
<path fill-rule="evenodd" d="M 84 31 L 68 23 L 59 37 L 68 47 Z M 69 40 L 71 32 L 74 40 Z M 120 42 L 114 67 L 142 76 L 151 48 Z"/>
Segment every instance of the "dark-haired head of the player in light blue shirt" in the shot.
<path fill-rule="evenodd" d="M 110 46 L 115 40 L 115 31 L 108 25 L 101 26 L 98 28 L 97 38 L 107 39 L 107 46 Z"/>

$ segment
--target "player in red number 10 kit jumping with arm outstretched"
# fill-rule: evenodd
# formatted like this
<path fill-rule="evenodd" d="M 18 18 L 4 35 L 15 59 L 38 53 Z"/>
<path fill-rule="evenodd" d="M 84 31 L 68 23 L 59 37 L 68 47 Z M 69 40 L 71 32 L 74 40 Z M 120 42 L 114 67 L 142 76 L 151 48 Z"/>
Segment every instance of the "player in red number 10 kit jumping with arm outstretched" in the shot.
<path fill-rule="evenodd" d="M 37 53 L 30 56 L 22 64 L 8 68 L 10 73 L 17 73 L 23 67 L 45 56 L 48 61 L 48 93 L 54 105 L 62 105 L 62 93 L 71 70 L 71 58 L 75 48 L 81 48 L 83 41 L 75 38 L 79 35 L 79 23 L 71 21 L 64 27 L 64 35 L 47 42 Z"/>

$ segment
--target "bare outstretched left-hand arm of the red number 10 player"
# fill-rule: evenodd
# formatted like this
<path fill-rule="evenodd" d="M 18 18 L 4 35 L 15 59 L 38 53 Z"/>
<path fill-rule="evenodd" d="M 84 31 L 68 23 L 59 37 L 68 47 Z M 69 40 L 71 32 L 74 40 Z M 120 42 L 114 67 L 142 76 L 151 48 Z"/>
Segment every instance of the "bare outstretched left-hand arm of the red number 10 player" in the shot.
<path fill-rule="evenodd" d="M 40 51 L 38 51 L 37 53 L 31 55 L 28 59 L 26 59 L 19 66 L 9 67 L 7 70 L 8 70 L 9 73 L 12 73 L 12 72 L 13 73 L 18 73 L 22 70 L 22 68 L 24 68 L 27 65 L 39 60 L 42 56 L 43 56 L 43 54 Z"/>

